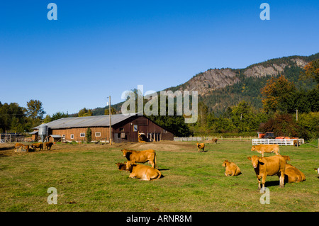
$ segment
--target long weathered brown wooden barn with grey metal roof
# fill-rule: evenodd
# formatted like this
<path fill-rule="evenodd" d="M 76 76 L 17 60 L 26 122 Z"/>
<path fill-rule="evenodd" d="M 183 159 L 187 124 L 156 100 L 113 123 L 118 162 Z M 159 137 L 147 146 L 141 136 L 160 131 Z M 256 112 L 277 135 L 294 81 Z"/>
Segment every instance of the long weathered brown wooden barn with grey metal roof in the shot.
<path fill-rule="evenodd" d="M 85 141 L 86 130 L 91 129 L 92 141 L 109 140 L 109 115 L 60 118 L 47 123 L 46 135 L 50 141 Z M 39 140 L 40 125 L 33 128 L 33 140 Z M 174 135 L 144 115 L 111 115 L 111 139 L 113 142 L 138 142 L 142 133 L 146 141 L 174 140 Z"/>

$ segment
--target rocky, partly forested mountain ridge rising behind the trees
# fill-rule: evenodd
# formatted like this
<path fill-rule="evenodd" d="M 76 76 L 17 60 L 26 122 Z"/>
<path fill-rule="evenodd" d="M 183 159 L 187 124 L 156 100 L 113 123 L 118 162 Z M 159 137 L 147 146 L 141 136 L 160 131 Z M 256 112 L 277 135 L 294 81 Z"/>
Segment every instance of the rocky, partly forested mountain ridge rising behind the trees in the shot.
<path fill-rule="evenodd" d="M 293 81 L 298 89 L 313 89 L 315 82 L 299 80 L 303 67 L 310 61 L 318 59 L 319 52 L 310 56 L 290 56 L 275 58 L 252 64 L 244 69 L 208 69 L 200 72 L 179 86 L 165 90 L 198 91 L 198 101 L 208 106 L 208 111 L 215 115 L 224 113 L 228 107 L 235 106 L 240 101 L 248 101 L 255 108 L 262 108 L 261 89 L 271 77 L 283 74 Z M 117 112 L 121 111 L 121 103 L 113 105 Z M 96 108 L 94 115 L 103 115 L 105 108 Z"/>

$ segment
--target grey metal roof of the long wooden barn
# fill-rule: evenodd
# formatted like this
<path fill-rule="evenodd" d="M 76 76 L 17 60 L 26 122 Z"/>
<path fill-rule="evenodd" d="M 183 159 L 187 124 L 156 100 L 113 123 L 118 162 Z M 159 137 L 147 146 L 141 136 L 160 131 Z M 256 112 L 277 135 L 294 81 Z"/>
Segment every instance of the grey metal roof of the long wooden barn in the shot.
<path fill-rule="evenodd" d="M 60 118 L 54 120 L 50 123 L 46 123 L 51 129 L 66 129 L 66 128 L 86 128 L 86 127 L 104 127 L 110 126 L 109 115 L 97 115 L 97 116 L 87 116 L 87 117 L 70 117 L 70 118 Z M 133 115 L 112 115 L 111 124 L 115 125 L 121 121 L 132 117 Z M 39 129 L 40 125 L 33 129 Z"/>

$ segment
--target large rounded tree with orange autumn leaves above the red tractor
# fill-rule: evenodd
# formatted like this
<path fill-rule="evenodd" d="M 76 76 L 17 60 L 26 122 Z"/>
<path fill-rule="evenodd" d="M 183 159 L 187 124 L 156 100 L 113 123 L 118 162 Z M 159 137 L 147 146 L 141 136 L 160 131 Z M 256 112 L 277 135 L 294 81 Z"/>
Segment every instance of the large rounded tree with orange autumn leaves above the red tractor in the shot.
<path fill-rule="evenodd" d="M 266 86 L 262 88 L 262 104 L 266 113 L 280 111 L 282 113 L 292 113 L 296 111 L 293 106 L 293 94 L 296 86 L 288 81 L 283 75 L 278 79 L 269 79 Z"/>

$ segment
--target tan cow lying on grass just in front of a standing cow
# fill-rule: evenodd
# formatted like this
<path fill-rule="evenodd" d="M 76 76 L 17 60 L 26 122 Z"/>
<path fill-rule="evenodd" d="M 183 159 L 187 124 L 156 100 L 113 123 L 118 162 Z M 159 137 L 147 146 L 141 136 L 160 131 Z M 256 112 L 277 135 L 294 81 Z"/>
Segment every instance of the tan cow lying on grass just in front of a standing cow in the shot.
<path fill-rule="evenodd" d="M 142 164 L 135 164 L 135 161 L 126 162 L 126 169 L 130 171 L 130 178 L 141 179 L 142 181 L 151 181 L 159 179 L 162 174 L 158 169 Z"/>

